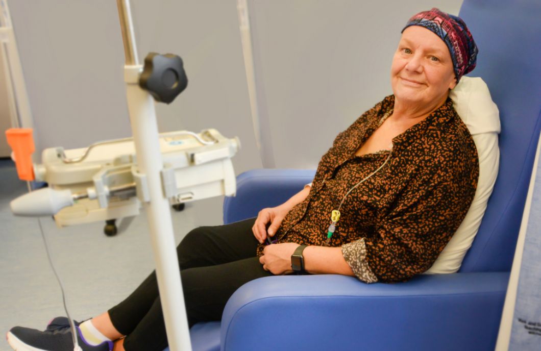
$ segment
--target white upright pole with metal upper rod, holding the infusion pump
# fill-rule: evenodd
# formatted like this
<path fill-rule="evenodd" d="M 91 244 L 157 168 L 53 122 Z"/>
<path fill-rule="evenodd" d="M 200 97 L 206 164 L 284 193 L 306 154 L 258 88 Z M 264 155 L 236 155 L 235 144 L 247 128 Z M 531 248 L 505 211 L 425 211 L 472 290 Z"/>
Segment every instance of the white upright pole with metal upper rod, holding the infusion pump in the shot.
<path fill-rule="evenodd" d="M 171 351 L 190 351 L 192 345 L 184 306 L 179 261 L 176 256 L 171 211 L 169 202 L 163 195 L 161 184 L 163 162 L 154 100 L 150 93 L 139 85 L 143 65 L 137 59 L 129 0 L 117 0 L 116 3 L 126 56 L 124 81 L 137 155 L 137 171 L 146 177 L 149 190 L 150 201 L 143 202 L 143 206 L 150 226 L 150 239 L 167 340 Z"/>

